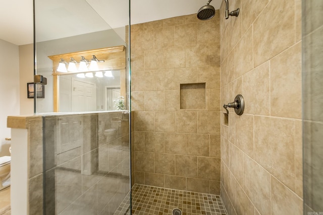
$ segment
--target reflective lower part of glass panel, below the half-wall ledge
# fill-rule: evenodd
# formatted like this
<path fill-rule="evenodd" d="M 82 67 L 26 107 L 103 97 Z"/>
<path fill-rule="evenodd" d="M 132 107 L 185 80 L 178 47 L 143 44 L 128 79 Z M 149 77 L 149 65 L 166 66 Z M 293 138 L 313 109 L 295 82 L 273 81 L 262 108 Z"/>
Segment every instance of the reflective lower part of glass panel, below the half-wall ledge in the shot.
<path fill-rule="evenodd" d="M 44 214 L 114 214 L 130 195 L 129 112 L 44 115 L 43 124 Z"/>

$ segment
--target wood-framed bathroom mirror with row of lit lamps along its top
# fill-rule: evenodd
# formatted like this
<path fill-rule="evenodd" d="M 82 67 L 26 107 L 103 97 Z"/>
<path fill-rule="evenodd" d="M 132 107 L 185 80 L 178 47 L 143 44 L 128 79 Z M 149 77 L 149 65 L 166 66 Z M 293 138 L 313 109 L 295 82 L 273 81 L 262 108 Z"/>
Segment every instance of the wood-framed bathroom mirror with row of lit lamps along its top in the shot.
<path fill-rule="evenodd" d="M 48 57 L 53 65 L 54 112 L 117 110 L 114 101 L 126 98 L 124 46 Z"/>

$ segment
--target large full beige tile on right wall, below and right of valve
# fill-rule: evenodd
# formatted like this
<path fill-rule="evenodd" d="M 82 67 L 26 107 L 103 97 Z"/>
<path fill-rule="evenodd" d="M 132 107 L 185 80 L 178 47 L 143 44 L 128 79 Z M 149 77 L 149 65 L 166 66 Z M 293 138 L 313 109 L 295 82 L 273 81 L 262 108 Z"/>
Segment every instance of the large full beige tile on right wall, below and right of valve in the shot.
<path fill-rule="evenodd" d="M 295 122 L 255 116 L 255 161 L 295 189 Z"/>

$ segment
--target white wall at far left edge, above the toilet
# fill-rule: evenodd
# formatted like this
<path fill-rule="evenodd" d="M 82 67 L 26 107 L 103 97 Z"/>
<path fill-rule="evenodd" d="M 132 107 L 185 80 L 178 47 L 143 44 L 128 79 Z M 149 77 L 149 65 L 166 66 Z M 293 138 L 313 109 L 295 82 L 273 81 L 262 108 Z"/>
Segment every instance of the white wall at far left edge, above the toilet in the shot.
<path fill-rule="evenodd" d="M 10 155 L 7 116 L 19 115 L 19 47 L 0 40 L 0 156 Z"/>

